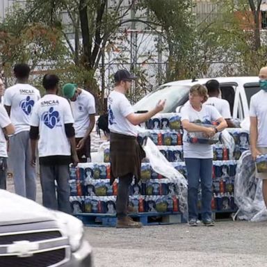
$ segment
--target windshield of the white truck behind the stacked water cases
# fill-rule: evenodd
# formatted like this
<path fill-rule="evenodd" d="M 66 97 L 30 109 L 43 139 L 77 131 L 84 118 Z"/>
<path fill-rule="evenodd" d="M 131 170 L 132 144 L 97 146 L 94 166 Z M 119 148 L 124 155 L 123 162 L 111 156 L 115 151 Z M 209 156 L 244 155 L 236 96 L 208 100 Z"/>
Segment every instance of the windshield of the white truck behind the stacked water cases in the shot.
<path fill-rule="evenodd" d="M 159 100 L 166 99 L 165 108 L 162 113 L 174 112 L 177 106 L 183 105 L 188 99 L 190 86 L 159 86 L 147 96 L 138 101 L 133 109 L 137 111 L 150 111 Z"/>

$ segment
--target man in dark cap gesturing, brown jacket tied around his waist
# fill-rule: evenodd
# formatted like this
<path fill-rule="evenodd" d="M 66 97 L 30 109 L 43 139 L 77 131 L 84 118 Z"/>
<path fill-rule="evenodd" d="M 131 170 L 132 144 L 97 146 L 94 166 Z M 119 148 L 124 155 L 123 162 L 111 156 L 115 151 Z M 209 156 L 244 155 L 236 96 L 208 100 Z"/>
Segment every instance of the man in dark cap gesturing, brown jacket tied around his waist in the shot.
<path fill-rule="evenodd" d="M 125 96 L 131 88 L 131 81 L 136 79 L 127 70 L 118 70 L 114 76 L 115 88 L 108 96 L 108 129 L 111 131 L 111 184 L 119 177 L 118 196 L 116 202 L 117 227 L 142 227 L 127 216 L 129 186 L 133 176 L 140 179 L 141 160 L 145 152 L 137 141 L 136 125 L 146 122 L 152 116 L 163 111 L 165 101 L 147 113 L 135 114 Z"/>

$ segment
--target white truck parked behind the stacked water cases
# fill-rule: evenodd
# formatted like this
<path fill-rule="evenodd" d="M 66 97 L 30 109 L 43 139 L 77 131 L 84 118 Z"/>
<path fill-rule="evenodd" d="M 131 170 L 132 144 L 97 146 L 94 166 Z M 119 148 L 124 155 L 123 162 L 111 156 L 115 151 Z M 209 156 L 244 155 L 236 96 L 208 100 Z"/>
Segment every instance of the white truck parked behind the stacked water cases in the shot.
<path fill-rule="evenodd" d="M 210 79 L 216 79 L 220 83 L 222 98 L 229 102 L 232 118 L 243 120 L 249 116 L 250 99 L 252 95 L 260 90 L 259 77 L 257 76 L 172 81 L 157 87 L 143 99 L 140 99 L 133 106 L 134 111 L 149 111 L 156 106 L 160 99 L 166 99 L 162 113 L 175 112 L 178 106 L 182 106 L 188 101 L 188 93 L 191 86 L 197 83 L 205 85 Z"/>

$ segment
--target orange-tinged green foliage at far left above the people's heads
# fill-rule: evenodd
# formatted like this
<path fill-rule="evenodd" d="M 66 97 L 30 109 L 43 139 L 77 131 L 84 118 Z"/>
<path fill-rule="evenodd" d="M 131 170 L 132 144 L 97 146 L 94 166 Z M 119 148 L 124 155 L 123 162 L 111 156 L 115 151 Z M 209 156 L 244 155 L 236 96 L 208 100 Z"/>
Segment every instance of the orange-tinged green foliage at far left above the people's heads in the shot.
<path fill-rule="evenodd" d="M 26 62 L 32 70 L 63 67 L 68 55 L 63 35 L 56 27 L 26 21 L 27 11 L 13 6 L 0 24 L 1 68 L 6 78 L 12 77 L 13 65 Z"/>

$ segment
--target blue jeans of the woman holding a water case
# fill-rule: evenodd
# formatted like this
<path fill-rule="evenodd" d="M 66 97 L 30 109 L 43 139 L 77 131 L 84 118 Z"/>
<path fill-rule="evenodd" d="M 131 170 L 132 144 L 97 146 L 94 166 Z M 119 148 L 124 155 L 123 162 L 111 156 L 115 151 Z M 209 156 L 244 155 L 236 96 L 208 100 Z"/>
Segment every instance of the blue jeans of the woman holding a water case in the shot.
<path fill-rule="evenodd" d="M 198 218 L 197 191 L 201 182 L 202 220 L 211 218 L 212 159 L 185 159 L 188 173 L 188 217 Z"/>

